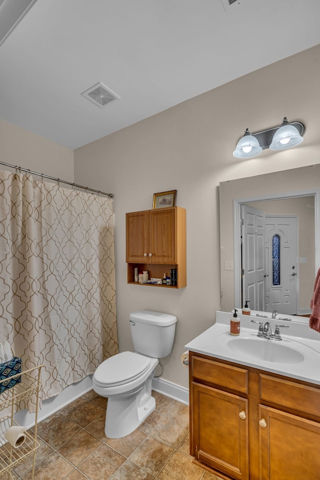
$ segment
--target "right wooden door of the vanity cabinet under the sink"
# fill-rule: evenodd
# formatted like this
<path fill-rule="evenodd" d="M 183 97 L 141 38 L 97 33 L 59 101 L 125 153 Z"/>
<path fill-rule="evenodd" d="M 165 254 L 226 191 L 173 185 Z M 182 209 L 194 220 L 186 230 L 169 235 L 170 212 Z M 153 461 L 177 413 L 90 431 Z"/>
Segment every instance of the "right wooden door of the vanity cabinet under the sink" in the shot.
<path fill-rule="evenodd" d="M 259 407 L 261 480 L 319 480 L 320 423 Z"/>

